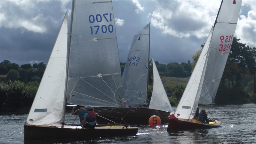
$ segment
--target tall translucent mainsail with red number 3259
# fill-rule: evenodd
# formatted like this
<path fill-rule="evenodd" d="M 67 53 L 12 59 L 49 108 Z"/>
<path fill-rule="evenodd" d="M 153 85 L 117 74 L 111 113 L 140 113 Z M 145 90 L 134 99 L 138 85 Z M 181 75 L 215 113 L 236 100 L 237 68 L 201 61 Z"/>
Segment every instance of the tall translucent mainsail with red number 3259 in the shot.
<path fill-rule="evenodd" d="M 241 0 L 224 0 L 221 2 L 214 25 L 203 88 L 199 99 L 201 104 L 214 102 L 234 38 L 241 2 Z"/>

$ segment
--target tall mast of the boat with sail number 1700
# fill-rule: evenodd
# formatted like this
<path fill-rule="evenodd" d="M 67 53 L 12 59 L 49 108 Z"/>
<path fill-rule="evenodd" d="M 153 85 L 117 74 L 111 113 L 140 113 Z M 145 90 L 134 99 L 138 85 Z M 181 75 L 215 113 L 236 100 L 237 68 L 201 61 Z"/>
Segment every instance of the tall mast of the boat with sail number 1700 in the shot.
<path fill-rule="evenodd" d="M 62 123 L 64 124 L 65 121 L 65 112 L 66 112 L 66 99 L 67 99 L 67 84 L 68 84 L 68 65 L 69 65 L 69 53 L 70 53 L 70 45 L 71 45 L 71 34 L 72 34 L 72 20 L 74 14 L 74 5 L 75 0 L 72 0 L 72 8 L 71 8 L 71 20 L 70 20 L 70 31 L 69 31 L 69 42 L 67 48 L 67 69 L 66 69 L 66 84 L 65 84 L 65 91 L 64 91 L 64 102 L 63 102 L 63 114 L 62 114 Z M 68 10 L 67 10 L 68 12 Z"/>

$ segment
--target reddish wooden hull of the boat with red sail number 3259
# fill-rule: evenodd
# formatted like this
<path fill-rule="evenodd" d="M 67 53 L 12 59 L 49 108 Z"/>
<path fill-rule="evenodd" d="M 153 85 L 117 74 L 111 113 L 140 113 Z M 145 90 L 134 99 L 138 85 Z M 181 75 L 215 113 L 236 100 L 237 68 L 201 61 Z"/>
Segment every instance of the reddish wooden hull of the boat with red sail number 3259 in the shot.
<path fill-rule="evenodd" d="M 196 119 L 170 119 L 167 132 L 176 130 L 208 129 L 219 127 L 221 122 L 215 120 L 216 124 L 203 124 Z"/>

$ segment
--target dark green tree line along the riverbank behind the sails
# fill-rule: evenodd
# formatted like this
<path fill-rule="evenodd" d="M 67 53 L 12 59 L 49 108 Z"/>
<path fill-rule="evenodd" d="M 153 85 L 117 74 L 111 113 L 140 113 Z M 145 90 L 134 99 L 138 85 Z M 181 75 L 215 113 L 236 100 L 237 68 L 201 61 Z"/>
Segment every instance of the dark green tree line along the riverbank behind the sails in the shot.
<path fill-rule="evenodd" d="M 242 104 L 256 102 L 256 48 L 239 42 L 234 38 L 228 56 L 227 64 L 216 94 L 215 104 Z M 201 44 L 203 47 L 204 44 Z M 155 61 L 159 75 L 172 77 L 189 77 L 193 71 L 201 51 L 196 52 L 193 62 L 170 62 L 161 64 Z M 120 63 L 121 71 L 124 71 L 125 63 Z M 0 110 L 22 111 L 30 108 L 39 83 L 44 74 L 46 64 L 44 62 L 23 64 L 19 66 L 4 60 L 0 63 Z M 153 88 L 153 67 L 149 65 L 148 102 Z M 185 85 L 177 85 L 174 88 L 165 87 L 167 96 L 172 106 L 177 106 L 185 90 Z M 22 109 L 23 108 L 23 109 Z M 26 111 L 26 110 L 25 110 Z"/>

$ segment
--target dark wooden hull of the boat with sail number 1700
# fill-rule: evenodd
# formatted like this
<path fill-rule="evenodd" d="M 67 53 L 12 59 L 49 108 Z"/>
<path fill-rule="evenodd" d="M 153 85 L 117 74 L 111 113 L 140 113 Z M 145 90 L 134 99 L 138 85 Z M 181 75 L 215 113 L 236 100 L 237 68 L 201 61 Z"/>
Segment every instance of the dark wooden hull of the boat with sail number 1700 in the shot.
<path fill-rule="evenodd" d="M 136 135 L 137 127 L 124 127 L 117 125 L 96 125 L 94 129 L 81 129 L 78 125 L 54 124 L 51 126 L 24 125 L 24 140 L 86 140 L 100 137 L 113 137 L 123 135 Z"/>

